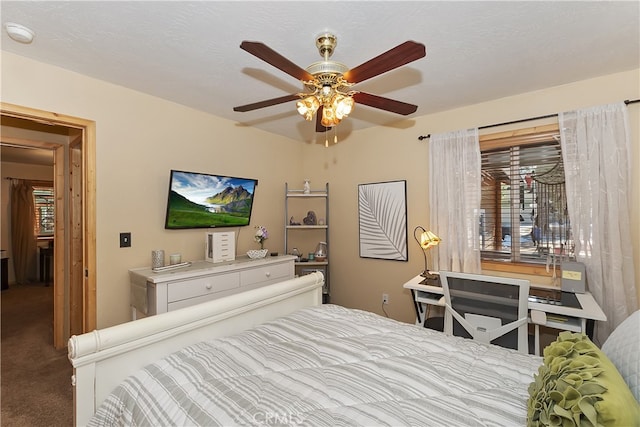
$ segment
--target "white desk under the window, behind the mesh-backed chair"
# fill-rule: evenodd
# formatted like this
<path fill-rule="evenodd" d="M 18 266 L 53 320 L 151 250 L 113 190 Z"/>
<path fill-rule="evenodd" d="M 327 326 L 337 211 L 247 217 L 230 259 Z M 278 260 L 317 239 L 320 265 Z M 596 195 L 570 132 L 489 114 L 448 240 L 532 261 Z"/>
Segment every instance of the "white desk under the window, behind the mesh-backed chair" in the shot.
<path fill-rule="evenodd" d="M 442 287 L 421 285 L 420 281 L 423 279 L 424 277 L 418 275 L 403 285 L 405 289 L 411 290 L 411 295 L 413 296 L 416 308 L 416 325 L 424 324 L 427 305 L 444 307 L 444 291 Z M 529 301 L 529 310 L 544 312 L 547 316 L 545 326 L 584 334 L 587 333 L 587 320 L 607 320 L 607 316 L 593 298 L 593 295 L 589 292 L 575 295 L 582 308 Z M 530 316 L 529 323 L 532 323 Z M 536 328 L 535 338 L 536 342 L 538 342 L 538 328 Z"/>

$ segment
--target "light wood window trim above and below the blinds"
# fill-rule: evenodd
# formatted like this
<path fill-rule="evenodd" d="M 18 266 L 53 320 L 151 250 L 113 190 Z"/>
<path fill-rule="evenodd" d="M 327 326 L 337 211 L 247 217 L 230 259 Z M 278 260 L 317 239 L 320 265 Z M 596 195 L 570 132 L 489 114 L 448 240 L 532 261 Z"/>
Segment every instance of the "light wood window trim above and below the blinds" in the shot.
<path fill-rule="evenodd" d="M 514 129 L 509 131 L 490 133 L 479 136 L 480 152 L 508 149 L 513 146 L 526 146 L 539 144 L 551 138 L 560 137 L 560 126 L 558 123 L 539 125 L 528 128 Z M 499 271 L 504 273 L 526 274 L 532 276 L 550 276 L 545 265 L 513 262 L 511 260 L 480 260 L 482 270 Z M 559 271 L 560 266 L 556 266 Z"/>

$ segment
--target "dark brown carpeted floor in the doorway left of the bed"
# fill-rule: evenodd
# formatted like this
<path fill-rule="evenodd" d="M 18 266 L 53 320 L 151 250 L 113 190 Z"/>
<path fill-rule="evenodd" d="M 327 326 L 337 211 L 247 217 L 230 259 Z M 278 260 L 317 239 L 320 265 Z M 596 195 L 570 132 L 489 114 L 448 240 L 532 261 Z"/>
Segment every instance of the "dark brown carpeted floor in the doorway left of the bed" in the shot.
<path fill-rule="evenodd" d="M 53 348 L 53 286 L 2 291 L 0 424 L 71 426 L 72 368 Z"/>

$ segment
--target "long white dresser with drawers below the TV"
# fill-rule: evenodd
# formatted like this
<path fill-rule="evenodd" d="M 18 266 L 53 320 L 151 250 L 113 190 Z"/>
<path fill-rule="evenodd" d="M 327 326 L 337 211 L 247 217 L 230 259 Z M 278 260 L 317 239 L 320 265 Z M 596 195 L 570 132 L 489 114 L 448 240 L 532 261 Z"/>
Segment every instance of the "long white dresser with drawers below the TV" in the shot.
<path fill-rule="evenodd" d="M 293 279 L 295 259 L 291 255 L 257 260 L 244 256 L 220 263 L 196 261 L 163 272 L 148 267 L 129 270 L 132 319 Z"/>

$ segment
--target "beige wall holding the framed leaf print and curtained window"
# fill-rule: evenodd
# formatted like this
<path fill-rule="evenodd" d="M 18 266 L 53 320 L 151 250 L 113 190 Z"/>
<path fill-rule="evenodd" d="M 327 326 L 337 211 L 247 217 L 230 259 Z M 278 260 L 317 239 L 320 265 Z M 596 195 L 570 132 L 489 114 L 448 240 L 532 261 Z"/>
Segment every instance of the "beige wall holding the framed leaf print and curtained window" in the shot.
<path fill-rule="evenodd" d="M 560 111 L 640 98 L 640 70 L 604 76 L 574 84 L 548 88 L 478 105 L 466 106 L 417 117 L 412 126 L 376 127 L 360 131 L 327 150 L 310 147 L 305 151 L 304 167 L 315 180 L 331 186 L 332 301 L 382 314 L 382 293 L 389 293 L 386 307 L 390 317 L 412 321 L 415 313 L 410 293 L 402 283 L 422 270 L 423 258 L 413 240 L 417 225 L 428 227 L 427 156 L 428 142 L 419 135 L 502 123 Z M 455 94 L 452 94 L 455 96 Z M 419 112 L 420 110 L 418 110 Z M 628 107 L 633 159 L 632 182 L 640 182 L 640 104 Z M 557 119 L 556 119 L 557 120 Z M 546 121 L 527 122 L 530 127 Z M 497 127 L 481 134 L 514 128 Z M 382 261 L 360 258 L 358 254 L 357 186 L 368 182 L 407 181 L 409 261 Z M 640 287 L 640 186 L 632 185 L 632 241 L 634 244 L 636 287 Z M 435 230 L 437 232 L 437 230 Z M 546 277 L 531 278 L 548 283 Z M 638 292 L 640 295 L 640 291 Z"/>

